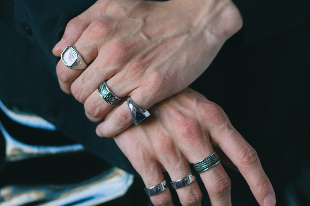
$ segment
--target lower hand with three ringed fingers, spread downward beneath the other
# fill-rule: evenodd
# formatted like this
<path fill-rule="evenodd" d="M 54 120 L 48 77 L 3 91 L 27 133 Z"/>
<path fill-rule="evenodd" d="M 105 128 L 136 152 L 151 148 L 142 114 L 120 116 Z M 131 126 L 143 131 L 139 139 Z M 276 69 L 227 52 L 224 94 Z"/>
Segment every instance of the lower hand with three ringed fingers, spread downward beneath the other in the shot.
<path fill-rule="evenodd" d="M 113 117 L 113 110 L 106 118 Z M 185 177 L 191 171 L 190 163 L 208 157 L 212 147 L 218 146 L 237 166 L 257 202 L 275 205 L 275 193 L 255 150 L 218 105 L 187 88 L 154 105 L 151 112 L 143 122 L 114 137 L 147 188 L 162 182 L 162 171 L 167 171 L 172 181 Z M 220 163 L 200 177 L 213 206 L 231 205 L 230 179 Z M 202 195 L 196 181 L 176 191 L 182 205 L 200 204 Z M 150 199 L 154 205 L 172 205 L 168 189 Z"/>

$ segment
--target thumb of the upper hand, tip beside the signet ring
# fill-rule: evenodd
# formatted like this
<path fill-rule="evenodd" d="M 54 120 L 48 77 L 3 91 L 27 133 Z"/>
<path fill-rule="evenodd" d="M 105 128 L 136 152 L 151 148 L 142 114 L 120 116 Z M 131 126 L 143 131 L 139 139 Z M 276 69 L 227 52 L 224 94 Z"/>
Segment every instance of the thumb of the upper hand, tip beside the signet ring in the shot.
<path fill-rule="evenodd" d="M 61 40 L 53 48 L 53 54 L 59 57 L 67 46 L 74 45 L 91 22 L 104 14 L 106 6 L 106 4 L 96 2 L 82 14 L 71 19 Z"/>

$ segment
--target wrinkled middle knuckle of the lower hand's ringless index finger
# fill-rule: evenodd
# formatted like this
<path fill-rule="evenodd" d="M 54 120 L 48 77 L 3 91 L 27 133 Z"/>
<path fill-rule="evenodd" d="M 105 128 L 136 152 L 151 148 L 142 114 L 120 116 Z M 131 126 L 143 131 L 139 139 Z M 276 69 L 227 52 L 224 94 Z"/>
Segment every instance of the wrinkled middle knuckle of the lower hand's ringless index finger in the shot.
<path fill-rule="evenodd" d="M 242 166 L 248 166 L 248 165 L 252 166 L 259 163 L 259 158 L 255 149 L 252 148 L 249 144 L 245 144 L 241 148 L 241 152 L 239 152 L 238 159 Z"/>

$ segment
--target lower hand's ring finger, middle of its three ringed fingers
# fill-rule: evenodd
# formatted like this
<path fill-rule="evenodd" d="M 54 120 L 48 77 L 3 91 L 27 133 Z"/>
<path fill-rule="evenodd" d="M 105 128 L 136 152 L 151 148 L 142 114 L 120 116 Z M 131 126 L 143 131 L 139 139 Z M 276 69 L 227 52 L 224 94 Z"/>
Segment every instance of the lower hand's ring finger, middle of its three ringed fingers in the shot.
<path fill-rule="evenodd" d="M 160 148 L 160 152 L 157 152 L 161 154 L 158 160 L 167 170 L 171 181 L 177 181 L 185 178 L 191 172 L 191 169 L 187 159 L 180 152 L 175 151 L 174 145 L 170 144 L 170 146 L 168 143 L 165 147 Z M 202 194 L 196 180 L 184 187 L 176 189 L 176 192 L 182 205 L 201 204 Z"/>

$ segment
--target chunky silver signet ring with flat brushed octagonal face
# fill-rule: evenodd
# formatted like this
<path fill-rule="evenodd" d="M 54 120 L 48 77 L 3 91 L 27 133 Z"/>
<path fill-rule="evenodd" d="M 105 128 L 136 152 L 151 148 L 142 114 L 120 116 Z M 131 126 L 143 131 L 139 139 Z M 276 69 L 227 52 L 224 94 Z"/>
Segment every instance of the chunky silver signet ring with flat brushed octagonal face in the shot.
<path fill-rule="evenodd" d="M 71 69 L 86 69 L 87 64 L 83 61 L 81 54 L 77 52 L 74 46 L 67 46 L 61 53 L 61 60 L 66 67 Z"/>

